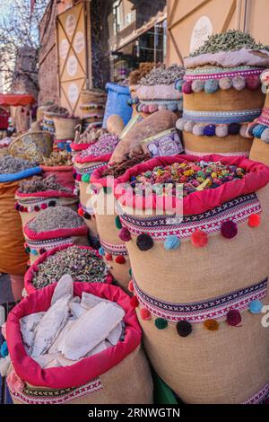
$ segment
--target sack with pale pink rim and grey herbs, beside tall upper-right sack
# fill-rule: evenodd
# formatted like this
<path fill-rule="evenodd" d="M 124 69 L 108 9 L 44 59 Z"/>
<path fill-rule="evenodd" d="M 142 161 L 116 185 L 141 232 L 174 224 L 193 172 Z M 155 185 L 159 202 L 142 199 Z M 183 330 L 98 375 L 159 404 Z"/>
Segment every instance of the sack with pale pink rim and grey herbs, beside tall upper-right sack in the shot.
<path fill-rule="evenodd" d="M 183 66 L 172 65 L 168 68 L 161 65 L 144 75 L 136 89 L 138 103 L 136 110 L 152 114 L 158 110 L 179 111 L 182 113 L 182 93 L 175 84 L 182 81 L 185 74 Z"/>

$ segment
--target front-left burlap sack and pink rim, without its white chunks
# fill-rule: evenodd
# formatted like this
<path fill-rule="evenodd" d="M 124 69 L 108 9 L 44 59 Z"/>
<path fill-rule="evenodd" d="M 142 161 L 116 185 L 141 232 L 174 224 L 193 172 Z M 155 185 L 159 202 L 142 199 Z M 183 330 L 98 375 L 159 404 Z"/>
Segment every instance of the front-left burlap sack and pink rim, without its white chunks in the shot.
<path fill-rule="evenodd" d="M 47 310 L 55 286 L 45 287 L 29 295 L 9 314 L 6 332 L 13 369 L 7 382 L 13 402 L 151 404 L 152 376 L 140 346 L 141 329 L 128 296 L 116 286 L 74 283 L 74 295 L 81 296 L 82 291 L 86 291 L 121 305 L 126 312 L 126 335 L 123 341 L 75 365 L 47 370 L 42 370 L 27 356 L 22 344 L 19 320 L 27 313 Z M 16 374 L 13 374 L 13 370 Z"/>

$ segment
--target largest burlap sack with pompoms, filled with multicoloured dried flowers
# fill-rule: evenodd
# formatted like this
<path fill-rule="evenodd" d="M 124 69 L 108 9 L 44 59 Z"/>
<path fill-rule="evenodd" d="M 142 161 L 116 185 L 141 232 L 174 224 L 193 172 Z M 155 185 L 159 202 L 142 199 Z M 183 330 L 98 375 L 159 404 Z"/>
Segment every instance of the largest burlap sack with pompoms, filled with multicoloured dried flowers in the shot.
<path fill-rule="evenodd" d="M 187 403 L 268 393 L 268 182 L 264 164 L 221 155 L 152 159 L 116 180 L 144 347 Z"/>

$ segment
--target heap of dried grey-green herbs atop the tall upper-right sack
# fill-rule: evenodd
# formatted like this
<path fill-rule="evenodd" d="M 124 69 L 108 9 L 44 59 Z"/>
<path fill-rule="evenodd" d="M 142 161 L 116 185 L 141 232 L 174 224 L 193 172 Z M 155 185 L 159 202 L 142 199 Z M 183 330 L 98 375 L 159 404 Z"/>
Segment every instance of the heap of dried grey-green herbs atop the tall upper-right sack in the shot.
<path fill-rule="evenodd" d="M 220 34 L 211 35 L 201 46 L 197 48 L 190 57 L 199 56 L 205 53 L 217 53 L 218 51 L 233 51 L 241 48 L 254 50 L 265 49 L 269 51 L 269 46 L 256 43 L 256 40 L 247 32 L 230 30 Z"/>

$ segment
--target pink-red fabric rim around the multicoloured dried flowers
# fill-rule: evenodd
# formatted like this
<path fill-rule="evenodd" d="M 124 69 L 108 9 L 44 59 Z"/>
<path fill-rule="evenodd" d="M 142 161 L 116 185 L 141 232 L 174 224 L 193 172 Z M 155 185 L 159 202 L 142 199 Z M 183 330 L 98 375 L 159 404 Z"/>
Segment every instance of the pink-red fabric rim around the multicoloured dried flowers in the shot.
<path fill-rule="evenodd" d="M 170 157 L 152 158 L 145 163 L 136 164 L 131 169 L 128 169 L 122 176 L 115 179 L 115 197 L 122 205 L 134 207 L 134 192 L 129 191 L 126 194 L 126 198 L 123 199 L 123 191 L 117 191 L 117 186 L 119 183 L 126 183 L 130 180 L 131 176 L 135 176 L 142 171 L 152 170 L 155 166 L 158 165 L 186 163 L 187 161 L 197 162 L 199 159 L 197 159 L 197 157 L 194 155 L 182 154 Z M 184 215 L 202 214 L 209 209 L 219 207 L 224 202 L 230 201 L 233 198 L 237 198 L 241 195 L 247 195 L 249 193 L 255 192 L 257 189 L 264 188 L 265 185 L 269 182 L 269 167 L 263 163 L 257 163 L 245 157 L 210 154 L 203 156 L 203 161 L 221 162 L 223 164 L 236 165 L 237 167 L 242 167 L 245 169 L 247 174 L 242 180 L 231 180 L 227 183 L 224 183 L 219 188 L 197 191 L 188 195 L 187 198 L 183 199 Z M 100 169 L 93 171 L 91 175 L 91 183 L 100 183 L 102 186 L 107 186 L 107 180 L 105 179 L 104 181 L 101 179 L 103 171 L 107 168 L 108 166 L 103 166 L 100 167 Z M 182 202 L 178 198 L 173 198 L 171 204 L 166 204 L 166 211 L 173 211 L 175 207 L 180 209 L 180 204 L 182 207 Z M 143 210 L 147 209 L 148 207 L 152 207 L 153 209 L 158 208 L 156 195 L 148 195 L 147 197 L 142 198 L 140 203 L 136 204 L 136 207 Z"/>

